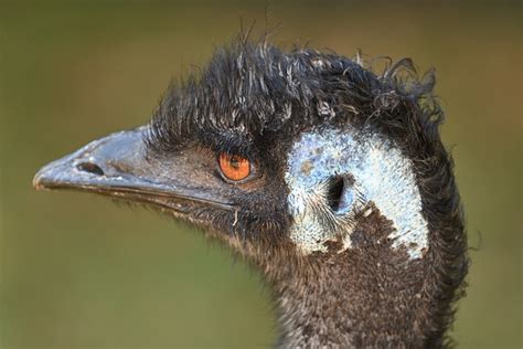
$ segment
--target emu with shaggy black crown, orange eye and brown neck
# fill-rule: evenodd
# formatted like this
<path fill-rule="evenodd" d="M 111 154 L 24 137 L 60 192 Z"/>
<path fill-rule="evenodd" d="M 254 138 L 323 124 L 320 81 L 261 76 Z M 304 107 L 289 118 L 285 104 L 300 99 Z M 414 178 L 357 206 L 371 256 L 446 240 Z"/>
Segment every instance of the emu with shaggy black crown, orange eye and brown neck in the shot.
<path fill-rule="evenodd" d="M 233 41 L 146 126 L 42 168 L 36 189 L 158 208 L 259 268 L 285 348 L 444 347 L 468 271 L 435 77 Z"/>

